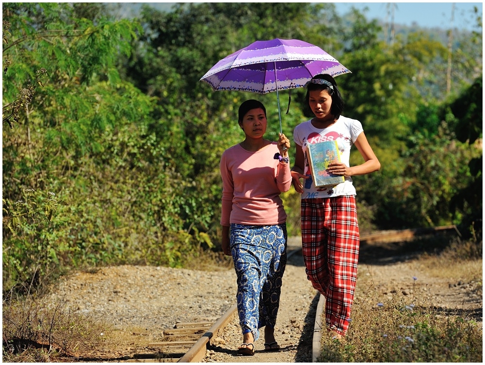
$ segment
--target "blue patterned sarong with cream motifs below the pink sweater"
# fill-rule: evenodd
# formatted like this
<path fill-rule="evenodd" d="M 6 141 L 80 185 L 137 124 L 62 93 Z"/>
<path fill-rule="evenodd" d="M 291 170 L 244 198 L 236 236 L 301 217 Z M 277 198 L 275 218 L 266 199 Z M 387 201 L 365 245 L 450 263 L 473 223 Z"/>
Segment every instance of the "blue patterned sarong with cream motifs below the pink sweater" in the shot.
<path fill-rule="evenodd" d="M 236 269 L 236 295 L 242 333 L 259 338 L 259 328 L 275 328 L 286 267 L 286 223 L 274 226 L 230 225 L 230 246 Z"/>

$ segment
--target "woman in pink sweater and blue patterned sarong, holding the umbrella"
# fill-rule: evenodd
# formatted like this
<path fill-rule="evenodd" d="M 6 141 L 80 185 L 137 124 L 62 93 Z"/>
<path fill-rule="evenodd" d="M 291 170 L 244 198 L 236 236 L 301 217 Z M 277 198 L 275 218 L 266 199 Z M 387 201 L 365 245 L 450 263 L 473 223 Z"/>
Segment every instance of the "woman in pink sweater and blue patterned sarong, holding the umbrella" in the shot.
<path fill-rule="evenodd" d="M 264 139 L 266 109 L 257 100 L 239 107 L 245 139 L 221 158 L 222 248 L 232 255 L 237 274 L 237 305 L 242 328 L 241 355 L 254 354 L 259 328 L 266 351 L 277 351 L 274 330 L 286 266 L 286 213 L 281 192 L 290 190 L 290 140 Z"/>

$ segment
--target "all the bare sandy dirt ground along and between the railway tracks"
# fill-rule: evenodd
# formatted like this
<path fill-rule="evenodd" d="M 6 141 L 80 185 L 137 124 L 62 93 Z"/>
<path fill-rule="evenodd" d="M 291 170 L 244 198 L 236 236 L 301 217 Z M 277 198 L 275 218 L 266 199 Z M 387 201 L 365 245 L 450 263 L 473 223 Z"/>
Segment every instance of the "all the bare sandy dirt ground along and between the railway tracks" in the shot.
<path fill-rule="evenodd" d="M 301 247 L 291 238 L 289 249 Z M 434 305 L 444 313 L 460 313 L 478 322 L 483 320 L 482 272 L 478 281 L 459 277 L 435 277 L 411 253 L 399 254 L 392 245 L 363 245 L 358 267 L 356 295 L 364 295 L 372 284 L 382 298 L 409 296 L 418 291 L 432 293 Z M 416 278 L 416 280 L 413 279 Z M 110 349 L 91 353 L 104 359 L 146 353 L 146 344 L 163 338 L 163 330 L 177 321 L 216 320 L 235 302 L 234 269 L 212 272 L 154 266 L 104 267 L 96 272 L 78 273 L 56 286 L 52 298 L 67 298 L 82 314 L 103 318 L 115 331 L 125 333 L 123 342 Z M 293 255 L 283 277 L 281 304 L 275 337 L 282 350 L 264 352 L 264 339 L 256 343 L 253 357 L 241 357 L 239 324 L 234 331 L 211 341 L 206 362 L 311 362 L 316 291 L 306 278 L 303 258 Z M 135 333 L 136 332 L 136 333 Z M 131 336 L 131 337 L 130 337 Z M 141 339 L 141 337 L 143 337 Z"/>

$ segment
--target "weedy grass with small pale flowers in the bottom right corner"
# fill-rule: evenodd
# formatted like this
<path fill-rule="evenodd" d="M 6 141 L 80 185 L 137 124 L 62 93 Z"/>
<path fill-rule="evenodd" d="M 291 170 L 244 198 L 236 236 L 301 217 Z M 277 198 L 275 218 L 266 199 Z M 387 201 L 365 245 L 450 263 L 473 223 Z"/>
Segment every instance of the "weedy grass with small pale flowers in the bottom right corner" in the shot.
<path fill-rule="evenodd" d="M 357 300 L 346 340 L 323 336 L 319 362 L 482 362 L 481 326 L 439 315 L 428 300 Z"/>

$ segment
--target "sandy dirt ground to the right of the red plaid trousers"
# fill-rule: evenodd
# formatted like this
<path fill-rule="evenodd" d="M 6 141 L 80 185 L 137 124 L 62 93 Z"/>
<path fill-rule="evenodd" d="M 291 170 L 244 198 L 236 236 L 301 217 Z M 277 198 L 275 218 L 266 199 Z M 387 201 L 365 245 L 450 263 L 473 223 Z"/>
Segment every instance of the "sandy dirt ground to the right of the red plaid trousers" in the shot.
<path fill-rule="evenodd" d="M 419 252 L 402 253 L 405 243 L 362 245 L 357 288 L 362 292 L 371 283 L 380 298 L 424 296 L 445 314 L 459 314 L 483 321 L 482 261 L 473 263 L 465 277 L 453 270 L 453 263 L 433 267 L 434 261 L 420 258 Z M 435 264 L 436 265 L 436 264 Z M 462 274 L 463 275 L 463 274 Z M 474 276 L 478 279 L 466 279 Z"/>

